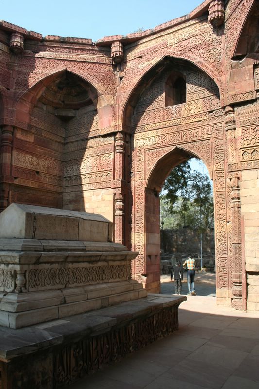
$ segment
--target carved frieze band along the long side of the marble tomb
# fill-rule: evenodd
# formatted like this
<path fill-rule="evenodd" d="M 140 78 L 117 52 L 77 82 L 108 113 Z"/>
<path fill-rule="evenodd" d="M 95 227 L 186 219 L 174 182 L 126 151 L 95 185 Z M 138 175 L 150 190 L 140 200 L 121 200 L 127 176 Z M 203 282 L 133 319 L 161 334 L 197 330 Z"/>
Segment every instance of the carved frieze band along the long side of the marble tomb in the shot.
<path fill-rule="evenodd" d="M 89 266 L 76 268 L 30 269 L 28 272 L 29 289 L 64 287 L 103 283 L 112 280 L 129 280 L 130 265 Z"/>

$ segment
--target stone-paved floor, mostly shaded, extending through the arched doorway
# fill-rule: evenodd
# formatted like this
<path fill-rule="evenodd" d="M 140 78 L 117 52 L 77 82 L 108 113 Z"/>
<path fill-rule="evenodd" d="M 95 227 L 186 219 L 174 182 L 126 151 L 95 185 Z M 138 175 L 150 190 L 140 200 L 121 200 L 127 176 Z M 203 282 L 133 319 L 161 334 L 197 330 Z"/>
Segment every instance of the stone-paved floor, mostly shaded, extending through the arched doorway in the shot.
<path fill-rule="evenodd" d="M 170 277 L 161 281 L 172 294 Z M 217 306 L 214 274 L 196 274 L 195 290 L 180 305 L 178 331 L 68 388 L 259 389 L 259 313 Z"/>

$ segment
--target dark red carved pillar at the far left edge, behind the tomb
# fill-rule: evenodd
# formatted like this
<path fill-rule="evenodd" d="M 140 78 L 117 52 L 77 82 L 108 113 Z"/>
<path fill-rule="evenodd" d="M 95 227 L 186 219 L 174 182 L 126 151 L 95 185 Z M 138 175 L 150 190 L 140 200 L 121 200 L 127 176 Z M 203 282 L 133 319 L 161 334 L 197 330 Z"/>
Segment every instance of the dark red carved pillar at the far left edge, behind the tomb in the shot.
<path fill-rule="evenodd" d="M 3 125 L 1 128 L 0 147 L 0 211 L 8 206 L 9 184 L 13 182 L 11 177 L 11 157 L 14 129 L 11 125 Z"/>

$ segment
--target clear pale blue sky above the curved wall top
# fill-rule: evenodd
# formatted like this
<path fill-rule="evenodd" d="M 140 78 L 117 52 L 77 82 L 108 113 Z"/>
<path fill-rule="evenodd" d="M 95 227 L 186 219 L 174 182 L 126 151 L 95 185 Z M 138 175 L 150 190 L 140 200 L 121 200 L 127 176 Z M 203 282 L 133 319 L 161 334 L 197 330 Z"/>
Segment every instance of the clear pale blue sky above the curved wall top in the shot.
<path fill-rule="evenodd" d="M 203 0 L 0 0 L 0 20 L 45 35 L 126 35 L 188 14 Z"/>

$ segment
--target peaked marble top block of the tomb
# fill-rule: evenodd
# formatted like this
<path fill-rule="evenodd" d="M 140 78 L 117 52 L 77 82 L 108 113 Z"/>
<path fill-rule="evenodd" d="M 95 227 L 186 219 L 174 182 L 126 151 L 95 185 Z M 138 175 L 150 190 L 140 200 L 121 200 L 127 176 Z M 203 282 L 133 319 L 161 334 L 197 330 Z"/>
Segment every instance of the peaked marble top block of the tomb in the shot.
<path fill-rule="evenodd" d="M 94 213 L 12 203 L 0 214 L 0 238 L 110 242 L 112 223 Z"/>

